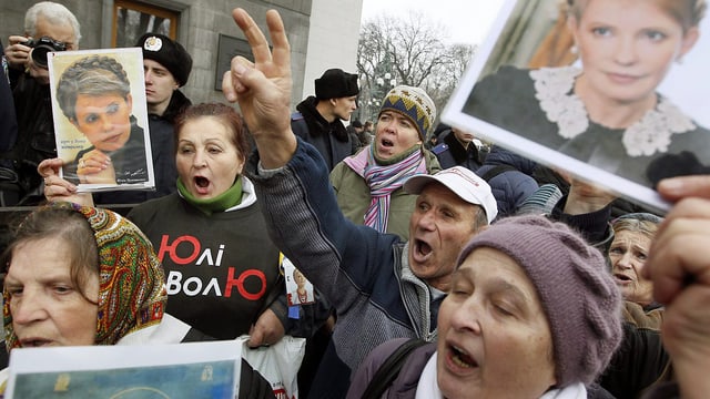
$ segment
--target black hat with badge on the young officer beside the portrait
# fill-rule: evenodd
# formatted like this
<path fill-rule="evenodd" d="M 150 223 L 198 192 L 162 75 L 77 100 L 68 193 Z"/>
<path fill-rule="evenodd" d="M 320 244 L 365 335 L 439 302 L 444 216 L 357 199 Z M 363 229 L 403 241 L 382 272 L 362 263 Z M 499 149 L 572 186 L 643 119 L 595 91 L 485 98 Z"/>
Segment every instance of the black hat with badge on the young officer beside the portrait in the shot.
<path fill-rule="evenodd" d="M 187 83 L 190 71 L 192 71 L 192 57 L 182 44 L 164 34 L 145 33 L 138 40 L 135 47 L 143 49 L 144 60 L 153 60 L 165 66 L 180 86 Z"/>

